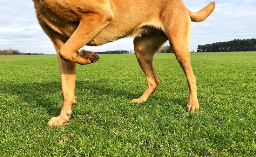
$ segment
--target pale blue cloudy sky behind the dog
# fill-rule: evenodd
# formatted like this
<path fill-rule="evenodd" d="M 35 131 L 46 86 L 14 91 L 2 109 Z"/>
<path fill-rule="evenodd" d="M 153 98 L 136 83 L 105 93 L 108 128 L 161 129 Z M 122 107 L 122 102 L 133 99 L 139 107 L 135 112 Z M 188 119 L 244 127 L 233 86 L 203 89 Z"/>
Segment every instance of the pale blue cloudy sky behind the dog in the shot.
<path fill-rule="evenodd" d="M 210 0 L 183 0 L 193 12 Z M 216 0 L 216 8 L 206 21 L 192 23 L 190 50 L 198 45 L 233 39 L 256 38 L 256 0 Z M 169 45 L 166 43 L 166 45 Z M 0 0 L 0 50 L 13 48 L 21 52 L 55 54 L 51 40 L 42 31 L 32 0 Z M 133 50 L 133 38 L 124 38 L 89 51 Z"/>

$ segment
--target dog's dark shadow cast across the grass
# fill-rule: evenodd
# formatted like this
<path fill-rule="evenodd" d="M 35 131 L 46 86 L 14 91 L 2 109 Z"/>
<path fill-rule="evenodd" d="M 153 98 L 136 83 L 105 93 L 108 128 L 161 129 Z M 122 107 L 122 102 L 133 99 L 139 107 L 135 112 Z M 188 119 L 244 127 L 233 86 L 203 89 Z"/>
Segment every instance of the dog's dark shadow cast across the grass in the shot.
<path fill-rule="evenodd" d="M 57 105 L 62 103 L 60 81 L 43 83 L 15 83 L 6 81 L 1 84 L 0 94 L 3 93 L 18 96 L 18 98 L 22 100 L 21 102 L 29 105 L 31 104 L 34 108 L 43 107 L 50 115 L 57 115 L 60 112 L 61 106 Z M 99 81 L 76 81 L 76 88 L 82 89 L 82 91 L 87 91 L 87 93 L 97 93 L 97 95 L 111 94 L 116 98 L 119 97 L 121 99 L 127 99 L 128 101 L 139 98 L 143 94 L 139 92 L 134 94 L 131 92 L 132 90 L 124 90 L 118 88 L 118 86 L 110 87 L 106 84 L 99 83 Z M 81 94 L 80 92 L 79 94 Z M 174 105 L 182 105 L 183 107 L 186 105 L 186 101 L 179 98 L 165 97 L 162 95 L 153 95 L 152 97 L 154 99 L 161 99 L 161 101 L 171 102 Z"/>

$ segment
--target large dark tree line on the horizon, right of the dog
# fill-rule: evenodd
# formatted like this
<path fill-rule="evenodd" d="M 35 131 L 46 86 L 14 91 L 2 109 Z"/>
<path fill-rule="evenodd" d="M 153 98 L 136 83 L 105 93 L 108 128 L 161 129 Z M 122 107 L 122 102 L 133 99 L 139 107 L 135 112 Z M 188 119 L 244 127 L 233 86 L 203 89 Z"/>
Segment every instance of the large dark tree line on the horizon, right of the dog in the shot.
<path fill-rule="evenodd" d="M 256 38 L 198 45 L 197 52 L 256 51 Z"/>

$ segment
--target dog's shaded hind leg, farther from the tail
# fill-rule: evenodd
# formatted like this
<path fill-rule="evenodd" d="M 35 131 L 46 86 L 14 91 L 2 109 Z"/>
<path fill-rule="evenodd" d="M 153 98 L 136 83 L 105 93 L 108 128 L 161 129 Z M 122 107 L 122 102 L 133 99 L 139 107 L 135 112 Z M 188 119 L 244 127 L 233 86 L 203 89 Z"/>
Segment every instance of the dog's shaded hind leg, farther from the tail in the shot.
<path fill-rule="evenodd" d="M 131 103 L 143 103 L 155 92 L 159 80 L 153 67 L 153 57 L 166 40 L 167 37 L 162 31 L 134 39 L 135 55 L 147 77 L 147 89 L 139 99 L 134 99 Z"/>

